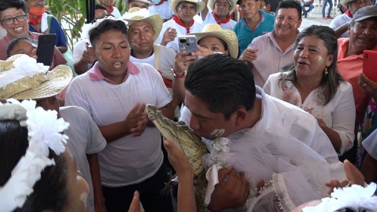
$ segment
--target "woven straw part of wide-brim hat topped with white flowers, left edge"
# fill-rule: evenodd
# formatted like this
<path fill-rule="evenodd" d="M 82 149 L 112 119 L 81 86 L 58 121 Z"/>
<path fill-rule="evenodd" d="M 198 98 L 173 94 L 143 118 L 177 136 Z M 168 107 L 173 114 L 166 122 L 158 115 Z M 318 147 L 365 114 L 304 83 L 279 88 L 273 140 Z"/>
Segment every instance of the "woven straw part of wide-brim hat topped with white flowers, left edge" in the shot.
<path fill-rule="evenodd" d="M 6 61 L 0 61 L 0 64 L 8 64 L 16 58 L 23 56 L 14 55 Z M 1 66 L 1 65 L 0 65 Z M 13 67 L 10 67 L 10 69 Z M 9 69 L 8 69 L 9 70 Z M 8 71 L 2 70 L 2 71 Z M 71 82 L 73 77 L 72 70 L 68 66 L 58 65 L 47 74 L 36 74 L 32 77 L 24 77 L 0 87 L 0 99 L 41 99 L 54 96 L 64 90 Z"/>

